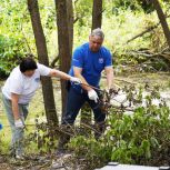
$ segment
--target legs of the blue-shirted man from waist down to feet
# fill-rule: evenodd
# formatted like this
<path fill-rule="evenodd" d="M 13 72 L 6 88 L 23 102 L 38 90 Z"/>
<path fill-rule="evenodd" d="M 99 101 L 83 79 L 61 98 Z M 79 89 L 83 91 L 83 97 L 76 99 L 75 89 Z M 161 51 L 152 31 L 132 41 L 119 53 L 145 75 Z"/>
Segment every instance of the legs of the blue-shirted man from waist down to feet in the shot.
<path fill-rule="evenodd" d="M 94 132 L 94 137 L 96 139 L 99 139 L 101 133 L 104 131 L 106 113 L 102 112 L 99 103 L 96 103 L 93 100 L 89 99 L 88 92 L 83 91 L 82 93 L 80 93 L 72 87 L 70 87 L 68 90 L 67 108 L 62 118 L 61 129 L 62 131 L 69 131 L 70 126 L 74 123 L 74 120 L 86 101 L 90 104 L 93 111 L 97 130 L 97 132 Z M 63 151 L 66 149 L 66 144 L 69 142 L 69 140 L 70 136 L 68 133 L 62 133 L 60 136 L 58 143 L 59 153 L 60 151 Z"/>

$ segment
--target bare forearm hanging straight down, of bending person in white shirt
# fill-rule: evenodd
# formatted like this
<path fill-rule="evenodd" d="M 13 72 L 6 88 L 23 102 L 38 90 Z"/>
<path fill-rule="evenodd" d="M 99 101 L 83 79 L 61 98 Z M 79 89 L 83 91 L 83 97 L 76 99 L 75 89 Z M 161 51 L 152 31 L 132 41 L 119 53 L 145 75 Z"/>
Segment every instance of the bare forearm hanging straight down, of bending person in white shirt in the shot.
<path fill-rule="evenodd" d="M 14 120 L 20 119 L 18 101 L 19 101 L 19 94 L 11 93 L 12 112 Z"/>

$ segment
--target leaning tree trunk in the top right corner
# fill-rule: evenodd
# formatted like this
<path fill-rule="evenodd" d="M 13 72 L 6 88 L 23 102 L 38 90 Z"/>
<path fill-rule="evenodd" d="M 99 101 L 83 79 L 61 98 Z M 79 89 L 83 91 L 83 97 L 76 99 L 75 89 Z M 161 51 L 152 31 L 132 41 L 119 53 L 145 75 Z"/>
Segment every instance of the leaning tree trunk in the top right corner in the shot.
<path fill-rule="evenodd" d="M 162 26 L 168 46 L 170 48 L 170 30 L 169 30 L 169 27 L 168 27 L 168 23 L 167 23 L 167 20 L 166 20 L 166 16 L 164 16 L 164 13 L 162 11 L 162 8 L 159 3 L 159 0 L 151 0 L 151 1 L 153 3 L 154 9 L 157 10 L 158 18 L 161 22 L 161 26 Z"/>

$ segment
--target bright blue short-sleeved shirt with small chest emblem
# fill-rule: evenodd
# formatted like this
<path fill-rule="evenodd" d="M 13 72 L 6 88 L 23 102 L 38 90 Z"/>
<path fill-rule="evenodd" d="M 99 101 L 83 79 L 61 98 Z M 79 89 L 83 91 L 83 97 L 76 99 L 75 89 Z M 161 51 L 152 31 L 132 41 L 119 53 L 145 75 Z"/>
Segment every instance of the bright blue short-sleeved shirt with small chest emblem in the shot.
<path fill-rule="evenodd" d="M 93 87 L 99 87 L 101 72 L 106 67 L 112 66 L 110 51 L 101 47 L 99 51 L 92 52 L 89 43 L 78 47 L 72 56 L 70 76 L 74 76 L 73 67 L 82 68 L 82 76 L 87 82 Z M 72 84 L 77 90 L 81 90 L 80 86 Z"/>

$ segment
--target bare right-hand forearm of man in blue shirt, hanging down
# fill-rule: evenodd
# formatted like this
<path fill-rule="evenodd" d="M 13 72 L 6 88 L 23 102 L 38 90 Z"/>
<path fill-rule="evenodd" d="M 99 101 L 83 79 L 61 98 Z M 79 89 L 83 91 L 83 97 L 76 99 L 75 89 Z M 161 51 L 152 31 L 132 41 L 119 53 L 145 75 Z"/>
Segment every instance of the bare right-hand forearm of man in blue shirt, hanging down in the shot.
<path fill-rule="evenodd" d="M 104 69 L 106 74 L 107 74 L 107 88 L 108 90 L 112 88 L 113 86 L 113 68 L 111 67 L 106 67 Z"/>

